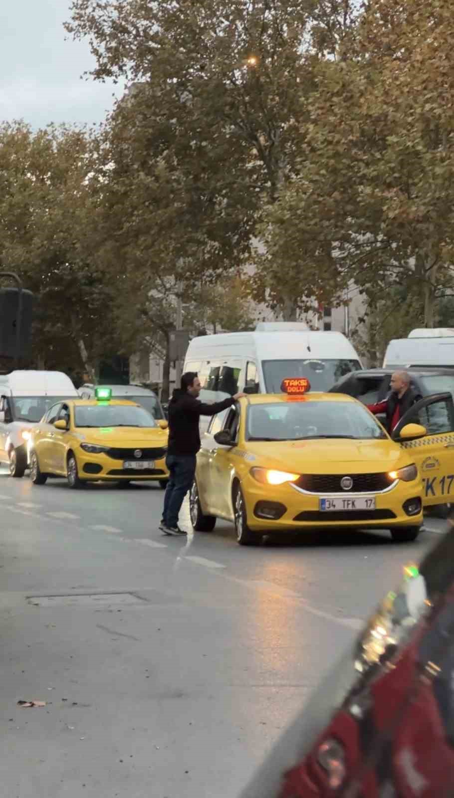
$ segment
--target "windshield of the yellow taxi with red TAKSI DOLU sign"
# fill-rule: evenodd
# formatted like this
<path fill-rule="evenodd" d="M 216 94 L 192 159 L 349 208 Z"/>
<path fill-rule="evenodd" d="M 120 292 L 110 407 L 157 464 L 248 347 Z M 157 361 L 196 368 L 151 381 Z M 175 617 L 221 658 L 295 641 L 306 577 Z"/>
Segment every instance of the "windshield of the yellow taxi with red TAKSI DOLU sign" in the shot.
<path fill-rule="evenodd" d="M 251 405 L 247 413 L 247 440 L 385 437 L 378 422 L 356 402 L 279 402 Z"/>

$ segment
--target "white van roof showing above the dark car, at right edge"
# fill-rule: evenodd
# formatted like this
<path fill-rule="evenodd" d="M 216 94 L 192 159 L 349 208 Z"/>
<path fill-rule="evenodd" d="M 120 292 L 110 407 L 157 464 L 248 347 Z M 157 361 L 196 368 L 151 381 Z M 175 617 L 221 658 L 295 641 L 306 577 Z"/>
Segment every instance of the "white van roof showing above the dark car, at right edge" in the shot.
<path fill-rule="evenodd" d="M 395 338 L 385 352 L 386 369 L 440 366 L 454 369 L 454 336 Z"/>

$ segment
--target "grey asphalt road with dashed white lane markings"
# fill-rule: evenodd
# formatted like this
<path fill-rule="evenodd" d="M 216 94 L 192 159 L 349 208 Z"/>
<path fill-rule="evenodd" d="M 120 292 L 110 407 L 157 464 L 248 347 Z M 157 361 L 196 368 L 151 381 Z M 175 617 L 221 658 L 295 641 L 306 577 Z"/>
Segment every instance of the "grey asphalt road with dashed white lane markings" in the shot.
<path fill-rule="evenodd" d="M 443 528 L 246 548 L 227 523 L 161 535 L 162 500 L 0 471 L 4 798 L 236 798 Z"/>

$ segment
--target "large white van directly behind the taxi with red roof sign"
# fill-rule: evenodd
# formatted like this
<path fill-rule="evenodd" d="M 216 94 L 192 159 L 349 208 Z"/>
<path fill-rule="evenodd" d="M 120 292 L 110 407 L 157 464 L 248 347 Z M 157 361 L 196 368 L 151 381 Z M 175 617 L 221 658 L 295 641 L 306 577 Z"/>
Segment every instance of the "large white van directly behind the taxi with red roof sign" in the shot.
<path fill-rule="evenodd" d="M 184 361 L 184 371 L 199 374 L 202 401 L 219 401 L 238 391 L 281 393 L 285 377 L 307 377 L 312 390 L 327 391 L 361 368 L 345 335 L 311 330 L 203 335 L 192 338 Z M 201 421 L 206 426 L 209 419 Z"/>

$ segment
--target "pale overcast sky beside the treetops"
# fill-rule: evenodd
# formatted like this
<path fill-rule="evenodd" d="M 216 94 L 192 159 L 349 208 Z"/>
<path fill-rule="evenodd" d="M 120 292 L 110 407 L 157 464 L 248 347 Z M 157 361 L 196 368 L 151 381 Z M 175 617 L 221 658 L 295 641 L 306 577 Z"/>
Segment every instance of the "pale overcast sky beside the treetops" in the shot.
<path fill-rule="evenodd" d="M 93 58 L 65 41 L 70 0 L 0 0 L 0 120 L 93 124 L 113 105 L 113 84 L 81 80 Z"/>

